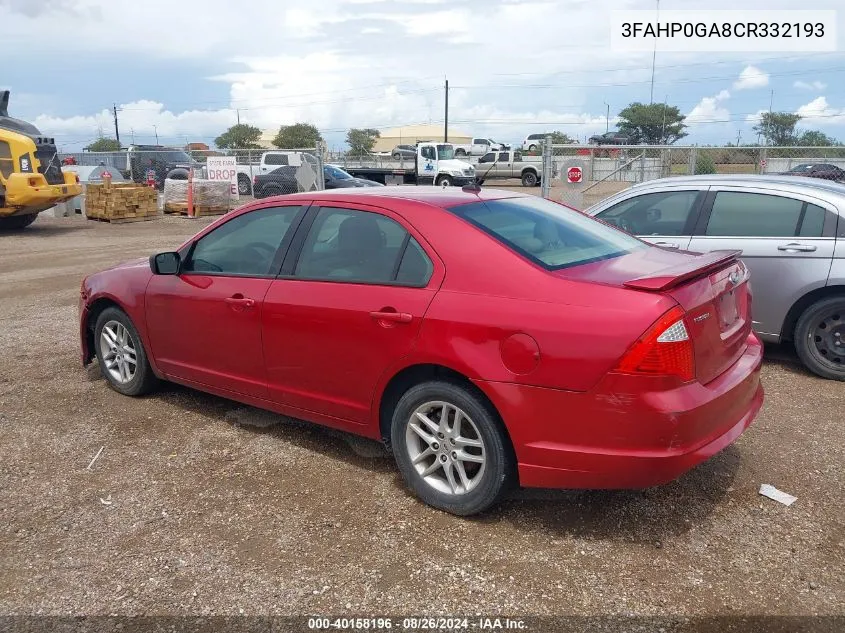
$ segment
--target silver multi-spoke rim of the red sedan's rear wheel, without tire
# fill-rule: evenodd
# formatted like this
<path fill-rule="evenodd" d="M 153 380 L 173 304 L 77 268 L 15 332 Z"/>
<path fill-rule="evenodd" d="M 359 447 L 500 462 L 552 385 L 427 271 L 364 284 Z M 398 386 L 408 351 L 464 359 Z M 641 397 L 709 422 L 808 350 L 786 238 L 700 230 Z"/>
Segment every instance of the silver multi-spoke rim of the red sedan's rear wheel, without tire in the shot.
<path fill-rule="evenodd" d="M 447 495 L 464 495 L 484 477 L 486 450 L 478 427 L 463 409 L 426 402 L 405 428 L 411 464 L 426 484 Z"/>

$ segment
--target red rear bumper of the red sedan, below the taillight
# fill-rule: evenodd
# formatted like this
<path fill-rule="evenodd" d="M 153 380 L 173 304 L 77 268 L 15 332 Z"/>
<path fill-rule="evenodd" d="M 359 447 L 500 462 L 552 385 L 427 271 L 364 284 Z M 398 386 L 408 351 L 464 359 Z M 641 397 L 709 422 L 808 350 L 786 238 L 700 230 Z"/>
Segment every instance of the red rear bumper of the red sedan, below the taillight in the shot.
<path fill-rule="evenodd" d="M 763 404 L 762 357 L 751 335 L 721 376 L 670 391 L 626 391 L 613 378 L 585 393 L 478 386 L 508 427 L 522 486 L 647 488 L 676 479 L 748 428 Z"/>

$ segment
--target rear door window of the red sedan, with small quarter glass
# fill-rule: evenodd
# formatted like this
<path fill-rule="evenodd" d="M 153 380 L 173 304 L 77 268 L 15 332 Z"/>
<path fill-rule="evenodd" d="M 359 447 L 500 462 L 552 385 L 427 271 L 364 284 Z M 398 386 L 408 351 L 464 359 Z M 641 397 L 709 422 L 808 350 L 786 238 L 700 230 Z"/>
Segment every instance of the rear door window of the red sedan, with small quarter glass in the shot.
<path fill-rule="evenodd" d="M 406 278 L 419 277 L 430 262 L 425 264 L 425 258 L 421 263 L 413 255 L 405 261 L 406 237 L 408 232 L 400 224 L 378 213 L 323 207 L 305 239 L 294 275 L 324 281 L 394 283 L 404 266 Z"/>

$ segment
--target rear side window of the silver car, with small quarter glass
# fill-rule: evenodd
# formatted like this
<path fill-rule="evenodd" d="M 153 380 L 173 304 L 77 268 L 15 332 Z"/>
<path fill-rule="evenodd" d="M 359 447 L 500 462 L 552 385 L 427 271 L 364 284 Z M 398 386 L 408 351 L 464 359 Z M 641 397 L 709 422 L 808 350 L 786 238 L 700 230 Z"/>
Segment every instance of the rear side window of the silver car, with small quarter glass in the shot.
<path fill-rule="evenodd" d="M 810 205 L 808 205 L 810 206 Z M 812 205 L 815 206 L 815 205 Z M 821 224 L 824 225 L 824 209 Z M 804 213 L 802 213 L 804 211 Z M 713 211 L 707 223 L 706 235 L 736 237 L 795 237 L 801 230 L 805 203 L 795 198 L 772 196 L 761 193 L 720 191 L 713 201 Z M 810 212 L 811 218 L 818 218 L 817 212 Z M 807 223 L 813 230 L 813 222 Z M 818 235 L 821 235 L 819 229 Z"/>

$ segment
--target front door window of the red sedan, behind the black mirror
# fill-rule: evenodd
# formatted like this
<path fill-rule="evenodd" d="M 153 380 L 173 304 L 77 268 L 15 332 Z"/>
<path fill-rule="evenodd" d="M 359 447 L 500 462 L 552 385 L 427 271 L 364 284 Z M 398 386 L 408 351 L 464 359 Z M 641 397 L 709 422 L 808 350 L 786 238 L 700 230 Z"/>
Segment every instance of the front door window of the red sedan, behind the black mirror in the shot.
<path fill-rule="evenodd" d="M 186 272 L 261 277 L 271 274 L 276 251 L 302 207 L 270 207 L 239 215 L 194 245 Z"/>

